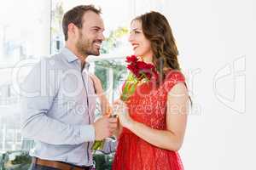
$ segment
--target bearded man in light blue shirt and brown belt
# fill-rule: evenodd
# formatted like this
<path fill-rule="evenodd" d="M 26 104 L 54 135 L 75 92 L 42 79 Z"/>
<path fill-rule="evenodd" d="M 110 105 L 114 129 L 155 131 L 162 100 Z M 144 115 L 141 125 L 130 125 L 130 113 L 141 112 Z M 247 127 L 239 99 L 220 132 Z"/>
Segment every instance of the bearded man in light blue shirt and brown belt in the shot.
<path fill-rule="evenodd" d="M 94 122 L 96 94 L 85 59 L 100 54 L 100 14 L 92 5 L 67 11 L 62 20 L 65 48 L 35 65 L 21 86 L 23 136 L 36 144 L 30 153 L 32 170 L 91 169 L 94 141 L 112 136 L 117 127 L 117 119 L 107 116 Z M 102 109 L 106 103 L 102 99 Z M 106 143 L 103 151 L 114 147 Z"/>

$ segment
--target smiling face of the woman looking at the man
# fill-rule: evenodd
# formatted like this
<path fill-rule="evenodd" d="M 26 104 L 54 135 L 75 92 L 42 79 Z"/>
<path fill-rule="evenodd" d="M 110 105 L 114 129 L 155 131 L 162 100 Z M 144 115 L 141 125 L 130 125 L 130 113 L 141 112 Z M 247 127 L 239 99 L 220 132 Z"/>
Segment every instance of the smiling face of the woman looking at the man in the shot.
<path fill-rule="evenodd" d="M 131 22 L 129 42 L 131 42 L 135 55 L 142 58 L 153 56 L 151 43 L 143 34 L 142 22 L 140 20 L 133 20 Z"/>

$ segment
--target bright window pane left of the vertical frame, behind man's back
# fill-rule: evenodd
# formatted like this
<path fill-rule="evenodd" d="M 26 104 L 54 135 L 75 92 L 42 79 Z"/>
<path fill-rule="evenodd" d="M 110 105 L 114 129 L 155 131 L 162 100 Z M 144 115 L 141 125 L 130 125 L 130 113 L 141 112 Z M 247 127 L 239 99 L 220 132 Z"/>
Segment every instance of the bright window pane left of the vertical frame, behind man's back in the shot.
<path fill-rule="evenodd" d="M 7 168 L 7 162 L 14 161 L 15 156 L 22 153 L 19 151 L 24 148 L 22 145 L 27 145 L 20 133 L 20 100 L 15 92 L 12 74 L 15 66 L 25 59 L 40 59 L 49 55 L 49 8 L 50 1 L 45 0 L 6 0 L 0 6 L 1 170 Z M 29 70 L 25 65 L 19 77 L 25 77 L 23 73 Z"/>

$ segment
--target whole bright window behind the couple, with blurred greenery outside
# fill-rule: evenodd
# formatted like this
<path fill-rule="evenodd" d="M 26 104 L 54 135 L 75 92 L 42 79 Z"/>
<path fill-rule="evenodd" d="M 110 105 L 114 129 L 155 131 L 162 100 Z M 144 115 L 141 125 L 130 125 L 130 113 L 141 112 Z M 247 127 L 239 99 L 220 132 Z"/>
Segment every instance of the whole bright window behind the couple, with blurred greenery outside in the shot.
<path fill-rule="evenodd" d="M 4 0 L 1 3 L 0 170 L 7 164 L 26 164 L 27 150 L 30 150 L 33 144 L 31 140 L 23 139 L 20 134 L 20 99 L 12 77 L 15 68 L 28 59 L 37 60 L 42 56 L 58 53 L 64 46 L 61 31 L 64 11 L 79 4 L 90 3 L 102 8 L 102 18 L 106 27 L 105 37 L 108 37 L 108 40 L 103 42 L 101 56 L 89 57 L 90 71 L 102 79 L 103 87 L 108 92 L 108 99 L 112 102 L 118 98 L 119 87 L 125 79 L 125 56 L 131 54 L 131 47 L 127 41 L 131 18 L 156 5 L 154 1 L 145 3 L 135 0 L 114 0 L 111 6 L 104 0 Z M 160 3 L 158 6 L 160 7 Z M 20 71 L 16 72 L 20 79 L 26 77 L 32 65 L 21 67 Z M 23 155 L 24 153 L 26 154 Z M 22 159 L 17 157 L 20 155 Z M 102 168 L 109 168 L 112 157 L 98 157 L 96 160 L 105 161 L 105 167 Z M 27 169 L 27 165 L 21 166 L 22 168 L 15 167 Z"/>

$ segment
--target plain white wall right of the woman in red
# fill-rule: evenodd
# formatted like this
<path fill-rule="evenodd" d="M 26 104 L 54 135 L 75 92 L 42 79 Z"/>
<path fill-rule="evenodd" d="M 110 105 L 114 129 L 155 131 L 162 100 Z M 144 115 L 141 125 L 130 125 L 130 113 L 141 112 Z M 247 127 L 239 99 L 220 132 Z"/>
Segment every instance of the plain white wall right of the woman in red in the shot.
<path fill-rule="evenodd" d="M 195 107 L 180 150 L 185 169 L 256 169 L 256 2 L 164 3 Z"/>

